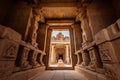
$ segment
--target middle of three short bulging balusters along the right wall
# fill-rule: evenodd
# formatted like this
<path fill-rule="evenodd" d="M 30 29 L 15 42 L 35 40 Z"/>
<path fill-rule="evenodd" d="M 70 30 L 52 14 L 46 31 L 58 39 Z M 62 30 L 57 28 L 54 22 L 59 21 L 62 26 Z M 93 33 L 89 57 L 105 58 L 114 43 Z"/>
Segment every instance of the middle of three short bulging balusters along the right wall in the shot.
<path fill-rule="evenodd" d="M 90 62 L 90 56 L 86 51 L 82 51 L 82 58 L 83 58 L 83 62 L 81 63 L 81 65 L 88 66 Z"/>

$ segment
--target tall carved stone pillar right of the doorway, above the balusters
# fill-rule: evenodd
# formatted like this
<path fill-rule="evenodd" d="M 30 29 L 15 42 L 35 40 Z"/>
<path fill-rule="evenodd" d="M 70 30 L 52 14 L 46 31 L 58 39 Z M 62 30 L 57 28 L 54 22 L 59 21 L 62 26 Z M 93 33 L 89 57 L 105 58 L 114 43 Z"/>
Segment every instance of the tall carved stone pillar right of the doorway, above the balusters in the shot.
<path fill-rule="evenodd" d="M 92 41 L 92 34 L 89 27 L 86 8 L 80 10 L 80 14 L 76 17 L 76 20 L 81 21 L 83 45 L 86 45 Z"/>

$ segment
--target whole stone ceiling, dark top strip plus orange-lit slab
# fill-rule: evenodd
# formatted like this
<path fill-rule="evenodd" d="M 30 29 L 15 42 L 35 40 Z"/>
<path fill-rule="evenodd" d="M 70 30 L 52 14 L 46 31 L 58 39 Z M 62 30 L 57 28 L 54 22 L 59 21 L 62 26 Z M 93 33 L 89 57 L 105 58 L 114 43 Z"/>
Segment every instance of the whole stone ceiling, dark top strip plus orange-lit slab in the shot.
<path fill-rule="evenodd" d="M 42 13 L 47 19 L 76 18 L 86 0 L 39 0 L 37 13 Z"/>

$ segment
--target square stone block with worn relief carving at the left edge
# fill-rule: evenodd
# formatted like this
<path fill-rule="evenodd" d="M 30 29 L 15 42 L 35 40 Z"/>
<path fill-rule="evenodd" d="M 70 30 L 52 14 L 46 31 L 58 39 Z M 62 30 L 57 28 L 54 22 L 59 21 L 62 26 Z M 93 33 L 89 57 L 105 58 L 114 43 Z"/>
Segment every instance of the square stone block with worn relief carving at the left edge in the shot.
<path fill-rule="evenodd" d="M 0 39 L 0 60 L 15 60 L 19 44 L 8 39 Z"/>

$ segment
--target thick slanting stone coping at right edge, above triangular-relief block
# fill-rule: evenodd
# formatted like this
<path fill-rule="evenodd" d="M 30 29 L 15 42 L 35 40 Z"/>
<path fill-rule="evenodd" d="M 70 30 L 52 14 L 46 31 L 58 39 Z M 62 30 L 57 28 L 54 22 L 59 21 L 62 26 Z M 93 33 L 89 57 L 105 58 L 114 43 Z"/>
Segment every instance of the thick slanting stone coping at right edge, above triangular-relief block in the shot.
<path fill-rule="evenodd" d="M 108 26 L 107 28 L 102 29 L 100 32 L 98 32 L 95 35 L 95 41 L 97 44 L 100 44 L 119 37 L 120 37 L 120 25 L 118 20 L 117 23 L 114 23 Z"/>

